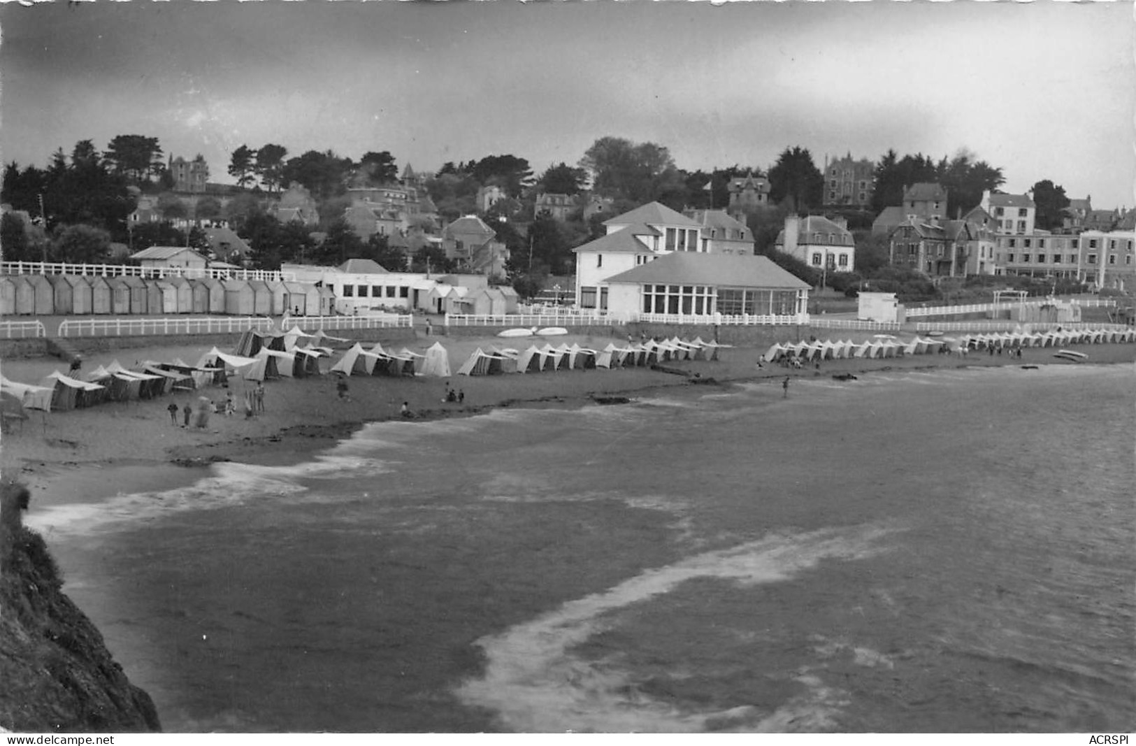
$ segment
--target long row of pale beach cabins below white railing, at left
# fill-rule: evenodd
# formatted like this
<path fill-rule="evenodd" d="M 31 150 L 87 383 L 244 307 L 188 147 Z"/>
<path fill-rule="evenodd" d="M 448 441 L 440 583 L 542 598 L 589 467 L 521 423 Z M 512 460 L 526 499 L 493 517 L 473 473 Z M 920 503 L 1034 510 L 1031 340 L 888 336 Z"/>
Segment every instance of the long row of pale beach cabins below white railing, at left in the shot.
<path fill-rule="evenodd" d="M 0 316 L 227 313 L 331 316 L 335 295 L 312 283 L 83 275 L 0 275 Z"/>

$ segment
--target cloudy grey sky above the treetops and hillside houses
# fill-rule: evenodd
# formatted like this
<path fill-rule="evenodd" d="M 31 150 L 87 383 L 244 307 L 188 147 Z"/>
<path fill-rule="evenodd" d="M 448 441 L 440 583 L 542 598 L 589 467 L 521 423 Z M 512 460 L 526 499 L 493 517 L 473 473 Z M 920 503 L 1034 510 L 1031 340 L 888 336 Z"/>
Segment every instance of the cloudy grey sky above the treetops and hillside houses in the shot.
<path fill-rule="evenodd" d="M 1008 191 L 1136 204 L 1131 2 L 15 2 L 0 7 L 0 157 L 118 134 L 202 153 L 389 150 L 401 169 L 598 137 L 680 168 L 786 146 L 878 160 L 968 148 Z"/>

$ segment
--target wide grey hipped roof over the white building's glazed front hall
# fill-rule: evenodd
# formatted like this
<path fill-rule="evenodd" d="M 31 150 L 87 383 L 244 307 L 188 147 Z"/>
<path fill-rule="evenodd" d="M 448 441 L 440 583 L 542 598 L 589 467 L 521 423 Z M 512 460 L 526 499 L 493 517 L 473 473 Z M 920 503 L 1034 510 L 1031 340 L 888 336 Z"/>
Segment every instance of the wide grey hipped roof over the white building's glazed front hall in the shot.
<path fill-rule="evenodd" d="M 768 257 L 709 254 L 676 251 L 634 269 L 619 273 L 611 283 L 660 283 L 727 287 L 804 290 L 809 284 L 775 265 Z"/>

